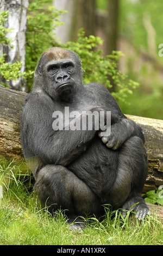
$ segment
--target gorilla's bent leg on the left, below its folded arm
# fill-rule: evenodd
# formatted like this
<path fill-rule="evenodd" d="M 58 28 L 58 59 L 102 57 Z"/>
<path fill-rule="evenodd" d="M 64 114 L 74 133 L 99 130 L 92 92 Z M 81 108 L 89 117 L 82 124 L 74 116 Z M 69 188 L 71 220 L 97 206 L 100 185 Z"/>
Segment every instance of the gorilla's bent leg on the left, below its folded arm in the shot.
<path fill-rule="evenodd" d="M 99 212 L 100 202 L 91 189 L 70 170 L 62 166 L 47 165 L 37 176 L 34 190 L 41 205 L 53 212 L 67 209 L 67 215 Z"/>

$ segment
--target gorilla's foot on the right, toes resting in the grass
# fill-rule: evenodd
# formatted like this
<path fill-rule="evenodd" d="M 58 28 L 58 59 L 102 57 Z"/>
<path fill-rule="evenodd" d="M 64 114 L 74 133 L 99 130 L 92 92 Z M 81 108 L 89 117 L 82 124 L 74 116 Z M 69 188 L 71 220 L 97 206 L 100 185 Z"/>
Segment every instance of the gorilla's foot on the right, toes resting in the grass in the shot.
<path fill-rule="evenodd" d="M 121 214 L 123 217 L 126 216 L 126 210 L 136 211 L 136 218 L 141 220 L 149 215 L 148 206 L 145 203 L 145 200 L 139 196 L 130 198 L 122 206 Z"/>

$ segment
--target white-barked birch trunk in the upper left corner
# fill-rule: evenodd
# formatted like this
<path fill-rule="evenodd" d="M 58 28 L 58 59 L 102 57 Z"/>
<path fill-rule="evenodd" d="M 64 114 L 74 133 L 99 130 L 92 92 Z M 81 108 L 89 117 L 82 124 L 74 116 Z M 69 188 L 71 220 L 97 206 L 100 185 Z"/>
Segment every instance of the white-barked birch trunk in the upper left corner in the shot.
<path fill-rule="evenodd" d="M 5 26 L 12 28 L 12 31 L 6 36 L 13 40 L 11 42 L 12 48 L 3 47 L 3 53 L 7 54 L 6 61 L 9 63 L 22 62 L 21 72 L 25 71 L 28 4 L 28 0 L 0 0 L 0 11 L 9 10 L 10 12 Z M 17 81 L 12 80 L 9 84 L 11 89 L 26 90 L 26 80 L 23 78 L 19 78 Z"/>

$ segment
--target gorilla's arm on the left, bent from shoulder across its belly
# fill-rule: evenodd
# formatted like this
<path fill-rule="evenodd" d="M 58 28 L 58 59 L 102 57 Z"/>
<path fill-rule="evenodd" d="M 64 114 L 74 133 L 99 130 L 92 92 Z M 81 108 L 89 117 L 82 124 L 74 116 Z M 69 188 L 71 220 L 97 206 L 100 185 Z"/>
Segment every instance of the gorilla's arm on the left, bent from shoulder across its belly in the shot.
<path fill-rule="evenodd" d="M 42 93 L 30 93 L 21 121 L 23 152 L 26 159 L 39 156 L 43 163 L 66 166 L 86 150 L 87 144 L 97 131 L 95 129 L 54 131 L 52 127 L 54 109 L 51 97 Z M 83 115 L 80 115 L 79 119 L 82 118 Z"/>

